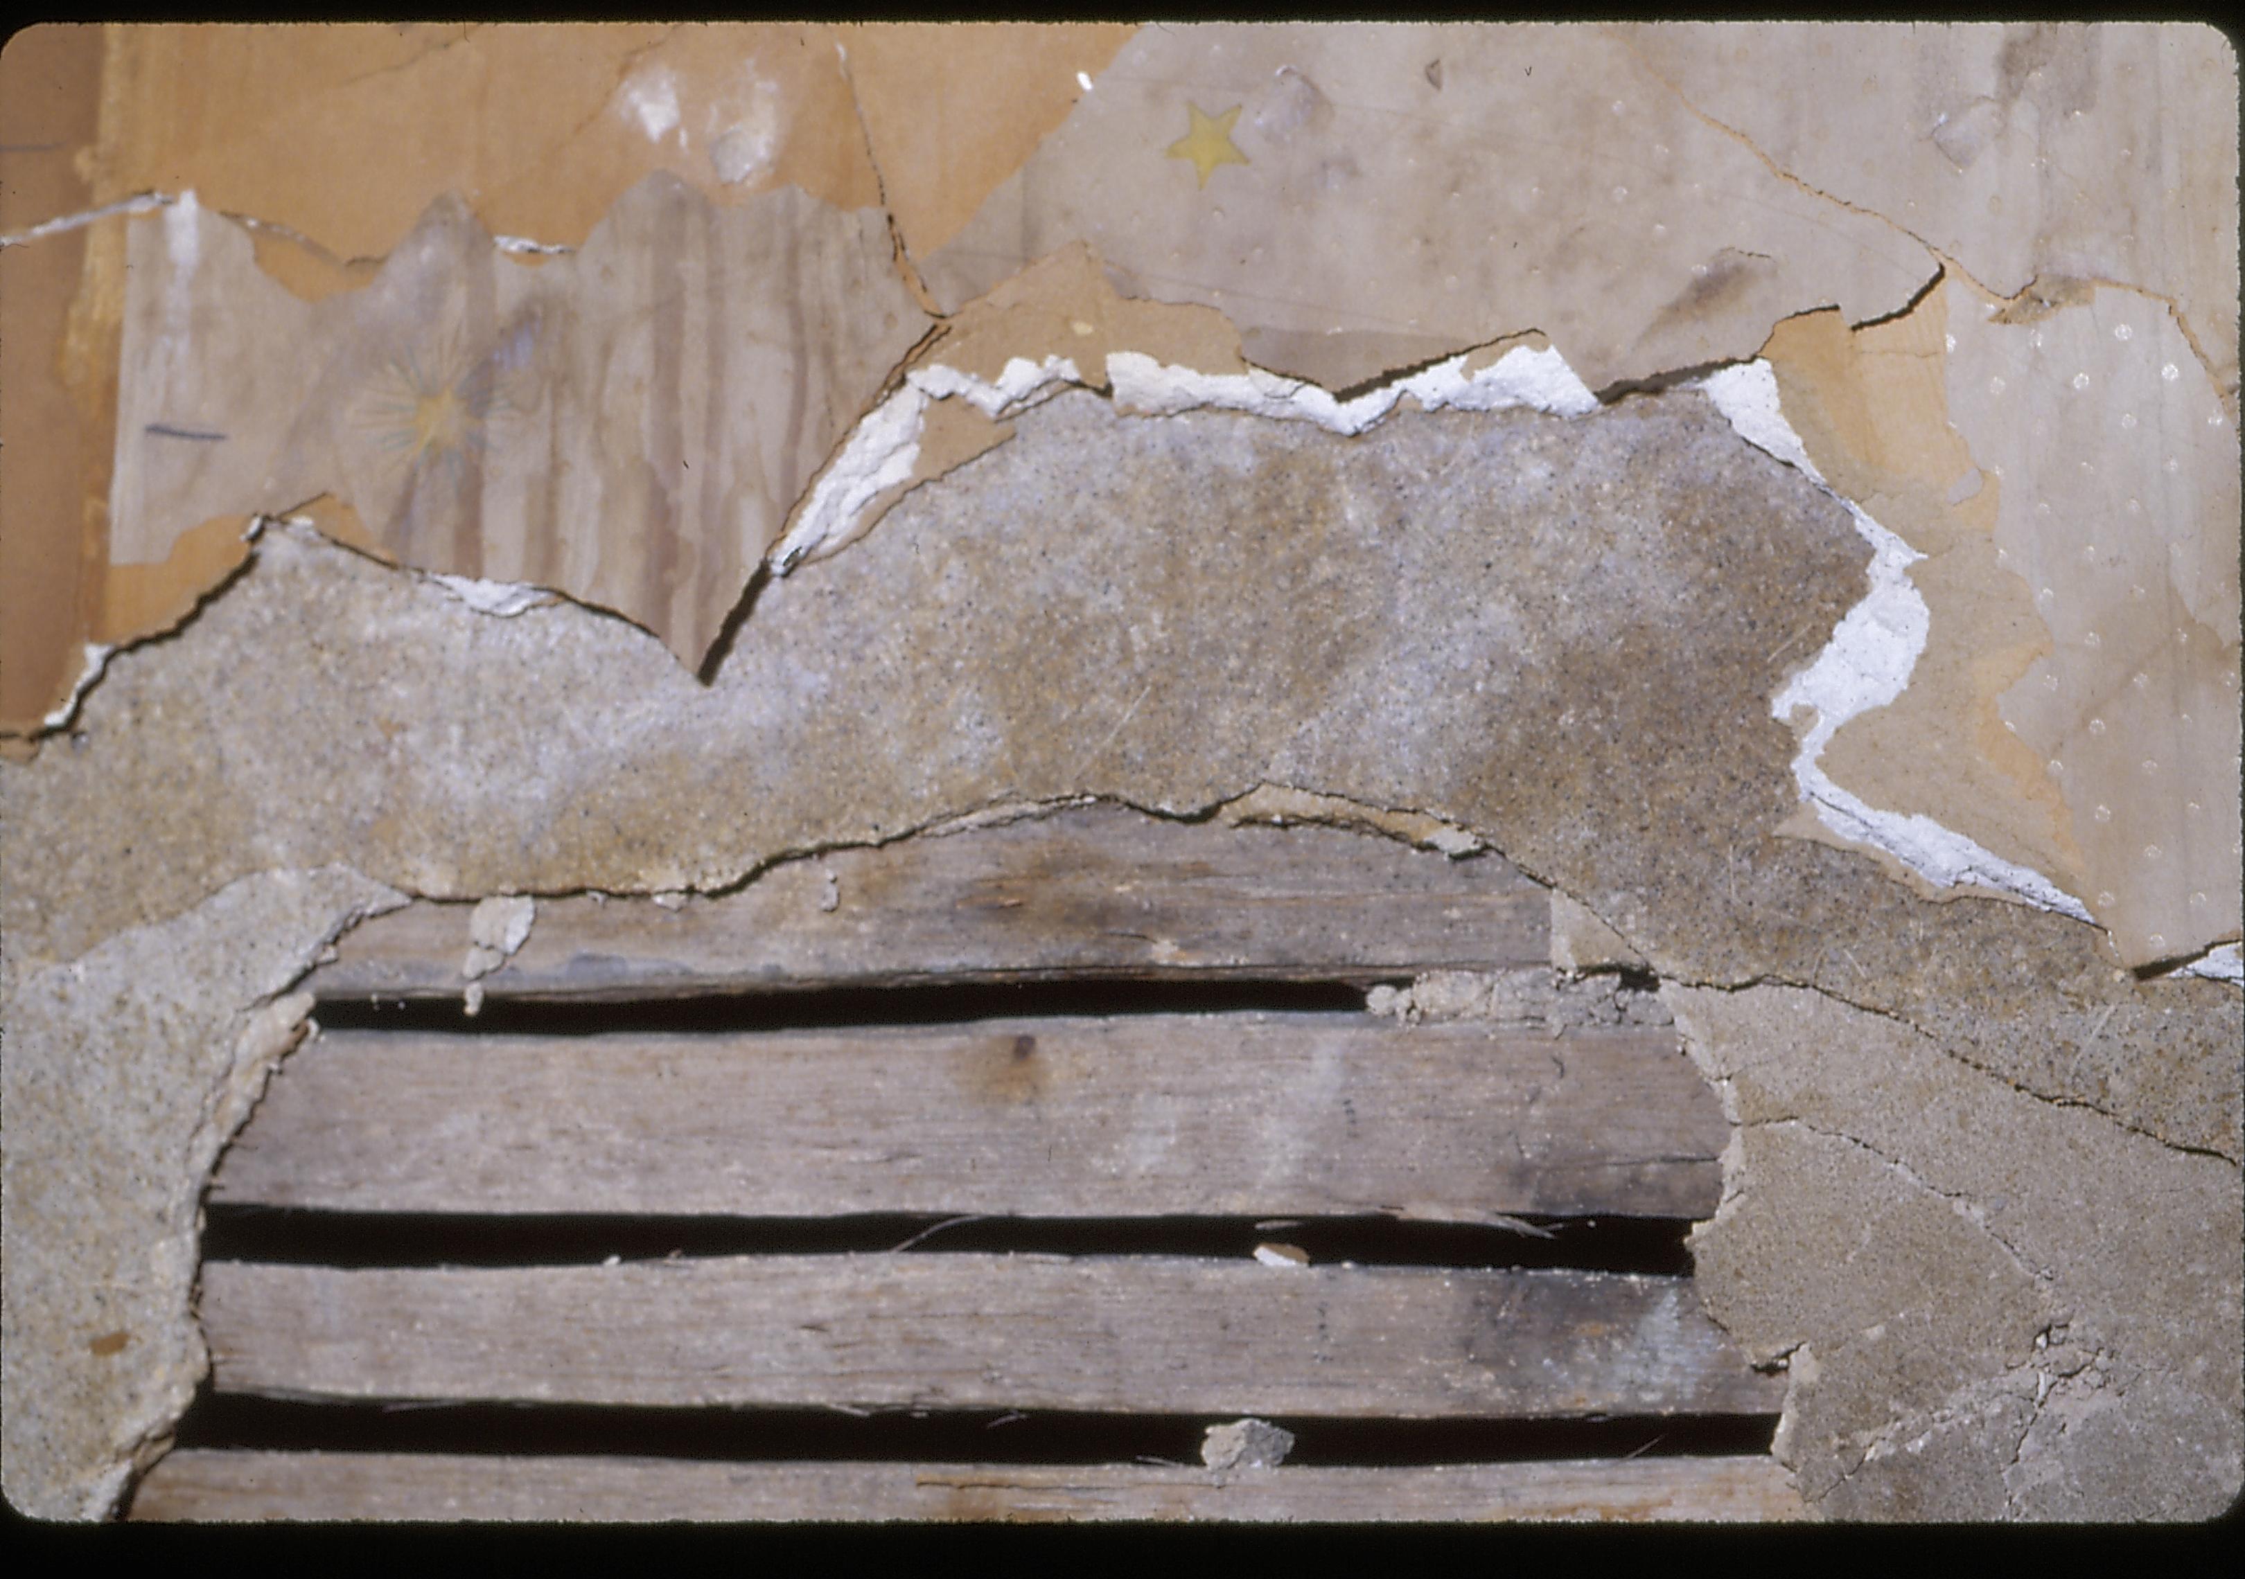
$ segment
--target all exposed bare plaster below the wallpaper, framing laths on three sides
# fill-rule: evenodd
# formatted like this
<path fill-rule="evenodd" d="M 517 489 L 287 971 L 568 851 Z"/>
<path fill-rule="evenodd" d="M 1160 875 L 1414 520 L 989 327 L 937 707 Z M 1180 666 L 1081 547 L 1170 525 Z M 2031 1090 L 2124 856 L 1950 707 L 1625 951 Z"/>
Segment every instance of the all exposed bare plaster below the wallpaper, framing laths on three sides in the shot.
<path fill-rule="evenodd" d="M 269 529 L 177 637 L 112 662 L 79 736 L 0 772 L 9 1498 L 101 1512 L 184 1402 L 229 1092 L 355 915 L 716 888 L 1004 801 L 1197 812 L 1273 783 L 1473 830 L 1670 982 L 1742 1126 L 1699 1238 L 1711 1308 L 1796 1355 L 1812 1503 L 2220 1505 L 2241 996 L 1776 834 L 1794 738 L 1769 698 L 1866 563 L 1832 498 L 1688 390 L 1356 440 L 1066 395 L 761 588 L 709 684 L 613 617 L 476 615 Z M 63 989 L 114 949 L 117 987 Z M 72 1162 L 101 1148 L 146 1200 Z M 88 1312 L 117 1285 L 141 1303 L 108 1326 Z M 2036 1400 L 2061 1323 L 2124 1379 Z M 108 1370 L 79 1359 L 128 1326 Z M 2187 1442 L 2166 1469 L 2113 1467 L 2160 1431 Z"/>

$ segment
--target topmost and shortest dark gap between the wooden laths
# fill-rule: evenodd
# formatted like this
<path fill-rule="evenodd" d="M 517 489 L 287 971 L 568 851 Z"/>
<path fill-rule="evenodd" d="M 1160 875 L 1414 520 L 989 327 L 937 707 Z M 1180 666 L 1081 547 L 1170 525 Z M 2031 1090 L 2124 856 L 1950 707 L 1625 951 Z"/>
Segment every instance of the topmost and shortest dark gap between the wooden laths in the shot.
<path fill-rule="evenodd" d="M 460 1032 L 476 1036 L 599 1036 L 615 1032 L 739 1034 L 860 1025 L 1140 1014 L 1363 1014 L 1363 987 L 1273 980 L 1042 980 L 927 987 L 817 987 L 806 991 L 555 1003 L 492 994 L 480 1014 L 447 998 L 323 998 L 326 1029 Z"/>

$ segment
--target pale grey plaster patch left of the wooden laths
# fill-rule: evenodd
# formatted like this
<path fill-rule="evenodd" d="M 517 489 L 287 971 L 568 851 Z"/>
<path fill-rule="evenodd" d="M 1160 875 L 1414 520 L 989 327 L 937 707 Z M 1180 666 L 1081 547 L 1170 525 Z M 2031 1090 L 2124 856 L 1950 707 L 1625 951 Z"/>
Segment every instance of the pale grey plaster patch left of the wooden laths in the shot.
<path fill-rule="evenodd" d="M 13 832 L 16 819 L 9 819 Z M 11 888 L 27 861 L 9 850 Z M 305 1032 L 287 989 L 404 904 L 348 866 L 256 872 L 72 960 L 7 953 L 7 1496 L 101 1518 L 207 1370 L 202 1186 Z"/>

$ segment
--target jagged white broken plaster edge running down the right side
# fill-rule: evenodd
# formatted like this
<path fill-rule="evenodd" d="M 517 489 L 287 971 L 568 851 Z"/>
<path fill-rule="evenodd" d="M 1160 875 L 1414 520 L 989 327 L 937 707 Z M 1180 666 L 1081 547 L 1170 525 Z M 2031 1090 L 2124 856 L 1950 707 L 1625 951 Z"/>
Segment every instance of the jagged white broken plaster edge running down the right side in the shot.
<path fill-rule="evenodd" d="M 1931 610 L 1910 583 L 1908 567 L 1924 558 L 1899 536 L 1881 527 L 1850 498 L 1841 498 L 1778 404 L 1778 379 L 1767 361 L 1720 368 L 1699 379 L 1697 388 L 1715 401 L 1738 435 L 1807 475 L 1816 487 L 1845 505 L 1854 529 L 1872 547 L 1870 592 L 1848 610 L 1816 662 L 1794 675 L 1771 700 L 1771 715 L 1792 722 L 1794 709 L 1814 713 L 1809 731 L 1794 754 L 1794 781 L 1800 798 L 1816 807 L 1816 821 L 1841 839 L 1884 850 L 1940 888 L 1971 884 L 2023 899 L 2043 911 L 2074 920 L 2092 920 L 2088 908 L 2034 868 L 2005 861 L 1973 839 L 1944 828 L 1924 814 L 1881 812 L 1861 796 L 1841 789 L 1823 772 L 1818 758 L 1839 727 L 1859 713 L 1886 707 L 1904 686 L 1917 655 L 1926 648 Z"/>

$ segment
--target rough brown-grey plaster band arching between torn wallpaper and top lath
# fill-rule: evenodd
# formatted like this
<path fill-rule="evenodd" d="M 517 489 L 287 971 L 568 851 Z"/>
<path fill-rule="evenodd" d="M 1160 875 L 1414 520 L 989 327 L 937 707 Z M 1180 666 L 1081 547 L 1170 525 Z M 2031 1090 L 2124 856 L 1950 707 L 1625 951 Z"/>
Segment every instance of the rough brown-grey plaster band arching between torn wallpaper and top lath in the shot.
<path fill-rule="evenodd" d="M 2146 1198 L 2178 1169 L 2234 1173 L 2234 989 L 2139 980 L 2068 917 L 1926 899 L 1866 857 L 1778 837 L 1794 740 L 1769 715 L 1789 662 L 1767 610 L 1814 610 L 1830 632 L 1870 554 L 1841 505 L 1706 395 L 1576 419 L 1399 415 L 1340 442 L 1228 413 L 1122 417 L 1073 393 L 1019 426 L 853 552 L 768 588 L 707 689 L 622 621 L 566 603 L 494 619 L 269 529 L 177 637 L 114 659 L 70 747 L 9 772 L 16 978 L 263 870 L 348 861 L 445 897 L 707 888 L 992 801 L 1192 812 L 1300 785 L 1468 830 L 1666 980 L 1792 980 L 1859 1005 L 1964 1090 L 2133 1146 Z M 1024 621 L 1026 606 L 1048 617 Z M 52 893 L 74 902 L 40 904 Z M 182 949 L 171 976 L 204 969 Z M 36 1023 L 18 1032 L 11 1009 L 9 1025 L 13 1081 L 40 1052 Z M 63 1043 L 45 1056 L 70 1061 Z M 1924 1144 L 1949 1142 L 1933 1128 Z M 1814 1175 L 1765 1166 L 1767 1184 L 1749 1157 L 1740 1189 L 1827 1200 Z M 1899 1220 L 1863 1218 L 1875 1234 Z M 79 1229 L 97 1231 L 144 1236 L 117 1218 Z M 1753 1314 L 1733 1319 L 1760 1330 Z M 1783 1308 L 1760 1319 L 1792 1330 Z M 2162 1323 L 2162 1308 L 2097 1310 L 2117 1355 L 2164 1355 L 2139 1332 Z M 1821 1375 L 1848 1364 L 1834 1352 Z M 1958 1388 L 2005 1366 L 1987 1355 Z M 2162 1429 L 2160 1400 L 2184 1384 L 2117 1395 L 2135 1413 L 2115 1429 Z M 1848 1397 L 1839 1433 L 1897 1418 L 1877 1388 Z M 2191 1418 L 2220 1397 L 2218 1377 L 2189 1393 Z M 2052 1462 L 2108 1496 L 2095 1453 L 2126 1431 L 2068 1442 Z M 11 1496 L 61 1512 L 34 1478 L 61 1469 L 40 1451 L 11 1451 Z M 74 1462 L 70 1483 L 110 1485 L 97 1469 Z M 2110 1496 L 2095 1505 L 2137 1507 Z"/>

